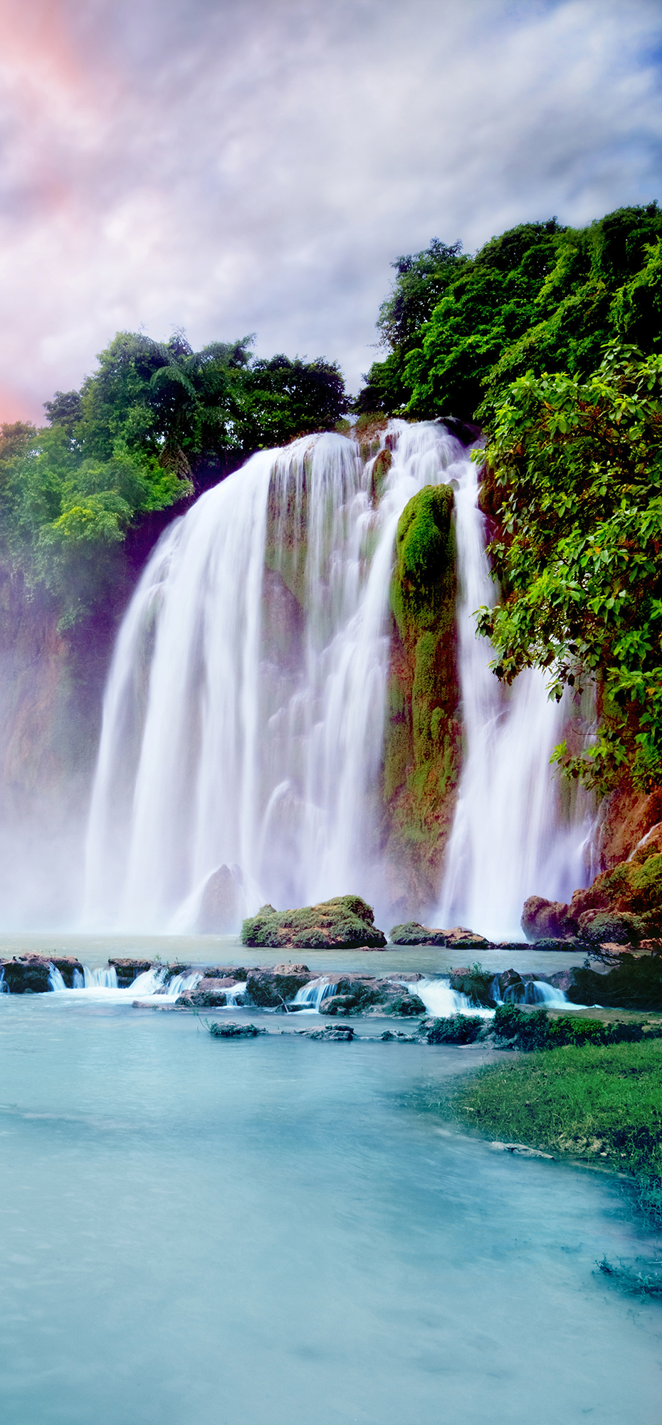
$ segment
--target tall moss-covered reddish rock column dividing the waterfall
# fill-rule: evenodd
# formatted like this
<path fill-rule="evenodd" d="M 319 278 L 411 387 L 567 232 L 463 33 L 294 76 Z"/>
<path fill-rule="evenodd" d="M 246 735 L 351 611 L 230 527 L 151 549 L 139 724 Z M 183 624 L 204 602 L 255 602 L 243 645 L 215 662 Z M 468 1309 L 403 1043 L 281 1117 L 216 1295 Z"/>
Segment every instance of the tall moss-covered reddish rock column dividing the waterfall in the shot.
<path fill-rule="evenodd" d="M 382 839 L 403 918 L 436 903 L 460 775 L 453 502 L 426 486 L 396 537 Z"/>

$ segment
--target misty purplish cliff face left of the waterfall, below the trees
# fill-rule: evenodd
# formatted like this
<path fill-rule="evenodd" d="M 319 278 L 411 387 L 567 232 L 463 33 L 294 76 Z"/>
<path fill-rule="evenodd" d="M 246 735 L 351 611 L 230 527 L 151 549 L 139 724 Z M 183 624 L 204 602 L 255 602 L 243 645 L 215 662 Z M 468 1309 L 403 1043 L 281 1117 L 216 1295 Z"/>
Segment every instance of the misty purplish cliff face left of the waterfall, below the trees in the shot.
<path fill-rule="evenodd" d="M 67 918 L 81 876 L 117 607 L 58 631 L 46 591 L 0 566 L 0 903 L 4 923 Z"/>

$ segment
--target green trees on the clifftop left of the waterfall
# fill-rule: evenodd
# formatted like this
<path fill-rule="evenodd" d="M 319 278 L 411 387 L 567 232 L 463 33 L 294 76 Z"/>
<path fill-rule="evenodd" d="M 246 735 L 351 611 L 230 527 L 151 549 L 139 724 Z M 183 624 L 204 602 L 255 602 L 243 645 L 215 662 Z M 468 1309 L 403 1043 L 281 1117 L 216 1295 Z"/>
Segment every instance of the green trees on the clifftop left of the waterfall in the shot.
<path fill-rule="evenodd" d="M 44 429 L 0 428 L 0 551 L 71 627 L 112 597 L 140 516 L 346 410 L 333 362 L 255 358 L 249 338 L 194 352 L 181 333 L 118 332 L 81 390 L 46 402 Z"/>

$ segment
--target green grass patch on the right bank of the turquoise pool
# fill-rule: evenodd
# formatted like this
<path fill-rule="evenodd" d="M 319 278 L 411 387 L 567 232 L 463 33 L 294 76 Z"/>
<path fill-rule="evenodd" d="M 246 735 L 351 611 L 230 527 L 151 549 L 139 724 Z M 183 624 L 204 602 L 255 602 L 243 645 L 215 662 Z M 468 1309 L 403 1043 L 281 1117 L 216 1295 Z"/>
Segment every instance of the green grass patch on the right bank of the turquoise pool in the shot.
<path fill-rule="evenodd" d="M 662 1042 L 568 1045 L 485 1064 L 456 1090 L 451 1112 L 510 1143 L 662 1178 Z"/>

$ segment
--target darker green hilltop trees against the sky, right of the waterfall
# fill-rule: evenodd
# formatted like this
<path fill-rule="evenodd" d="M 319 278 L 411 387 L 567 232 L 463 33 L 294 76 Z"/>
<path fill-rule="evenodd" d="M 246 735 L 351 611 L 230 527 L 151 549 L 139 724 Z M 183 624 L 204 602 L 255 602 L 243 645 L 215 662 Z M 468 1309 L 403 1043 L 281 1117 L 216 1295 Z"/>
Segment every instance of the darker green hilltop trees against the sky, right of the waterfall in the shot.
<path fill-rule="evenodd" d="M 504 389 L 530 370 L 587 373 L 616 338 L 651 352 L 661 331 L 661 239 L 653 202 L 587 228 L 521 224 L 471 258 L 443 244 L 400 258 L 377 319 L 390 352 L 370 368 L 356 409 L 490 423 Z"/>

